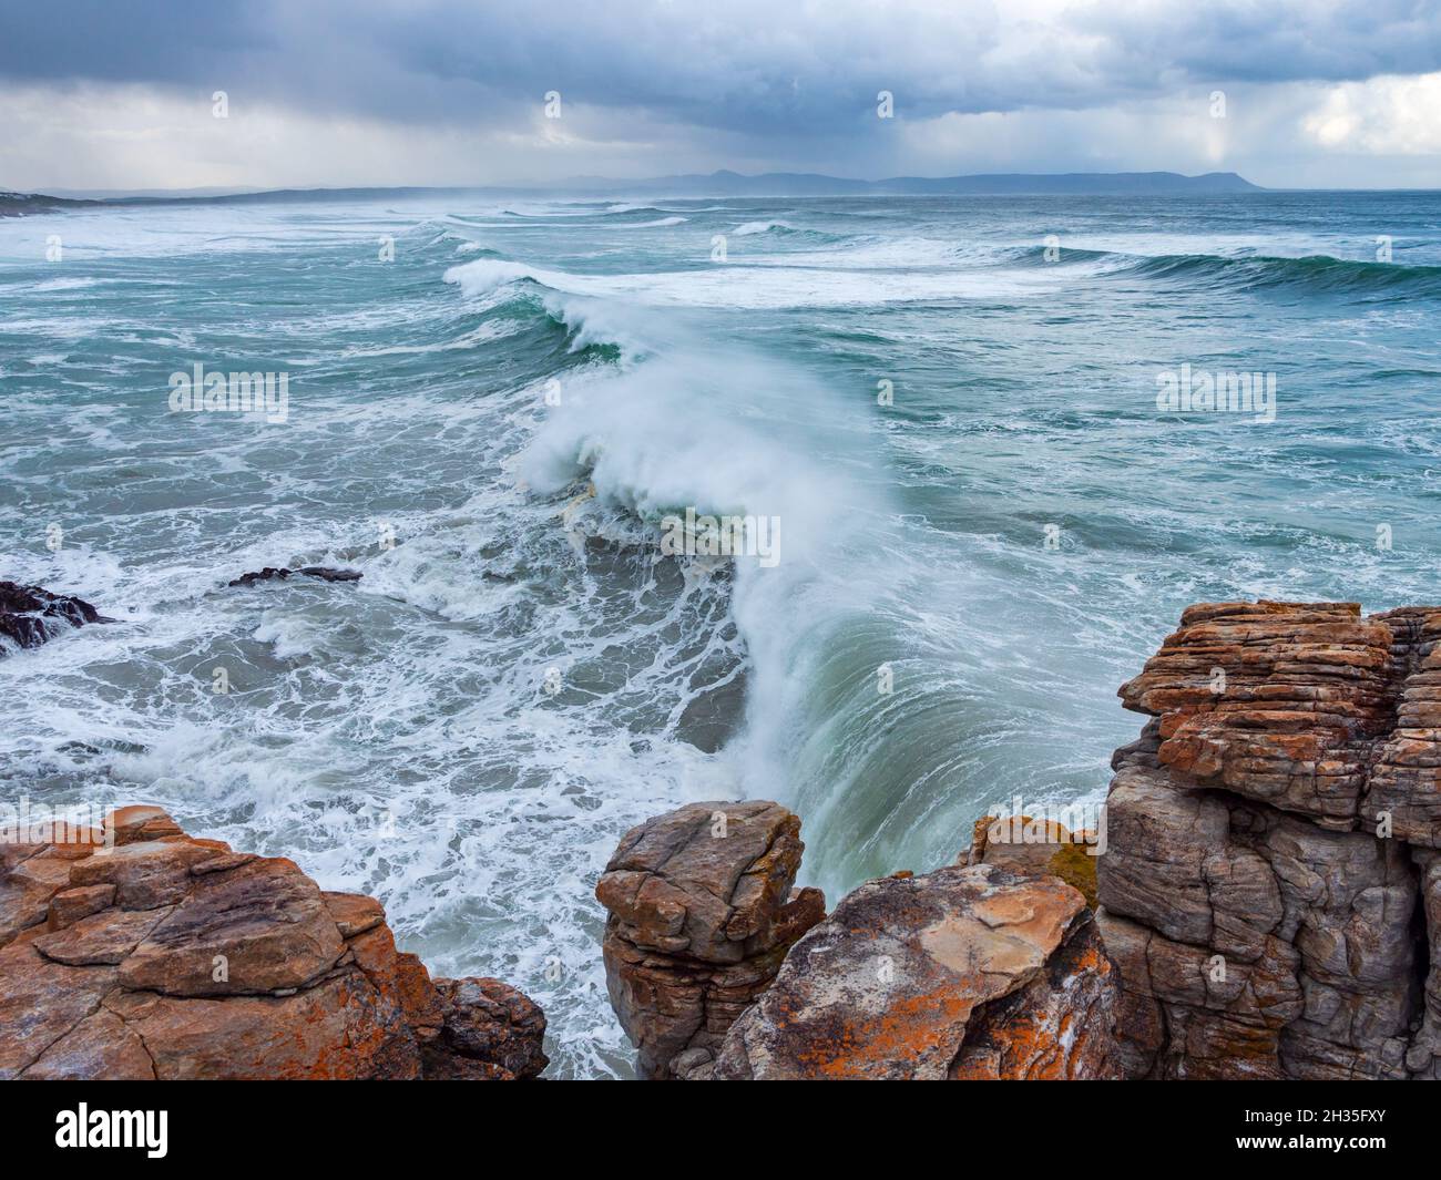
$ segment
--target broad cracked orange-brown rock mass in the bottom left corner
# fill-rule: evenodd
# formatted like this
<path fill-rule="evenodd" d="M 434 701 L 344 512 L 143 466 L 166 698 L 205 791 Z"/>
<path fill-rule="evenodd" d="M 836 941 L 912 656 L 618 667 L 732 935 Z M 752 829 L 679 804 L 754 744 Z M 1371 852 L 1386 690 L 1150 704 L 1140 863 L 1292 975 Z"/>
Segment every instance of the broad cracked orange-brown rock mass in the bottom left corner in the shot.
<path fill-rule="evenodd" d="M 0 1078 L 529 1078 L 545 1017 L 435 980 L 379 902 L 131 807 L 0 844 Z"/>

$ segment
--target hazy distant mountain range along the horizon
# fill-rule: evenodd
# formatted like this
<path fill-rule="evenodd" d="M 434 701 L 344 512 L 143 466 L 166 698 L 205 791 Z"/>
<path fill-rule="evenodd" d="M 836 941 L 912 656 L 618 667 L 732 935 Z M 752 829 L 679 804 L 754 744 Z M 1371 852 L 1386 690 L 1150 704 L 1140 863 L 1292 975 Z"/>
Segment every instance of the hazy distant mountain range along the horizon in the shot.
<path fill-rule="evenodd" d="M 1174 171 L 1072 171 L 990 173 L 981 176 L 895 176 L 889 180 L 849 180 L 820 173 L 768 171 L 742 176 L 713 171 L 708 176 L 660 176 L 653 180 L 575 177 L 559 184 L 500 187 L 401 187 L 401 189 L 272 189 L 267 192 L 189 192 L 130 196 L 46 196 L 0 190 L 0 216 L 23 216 L 97 205 L 256 205 L 298 200 L 403 200 L 454 193 L 490 196 L 584 196 L 586 193 L 651 196 L 990 196 L 990 195 L 1094 195 L 1094 196 L 1195 196 L 1202 193 L 1264 192 L 1233 171 L 1182 176 Z"/>

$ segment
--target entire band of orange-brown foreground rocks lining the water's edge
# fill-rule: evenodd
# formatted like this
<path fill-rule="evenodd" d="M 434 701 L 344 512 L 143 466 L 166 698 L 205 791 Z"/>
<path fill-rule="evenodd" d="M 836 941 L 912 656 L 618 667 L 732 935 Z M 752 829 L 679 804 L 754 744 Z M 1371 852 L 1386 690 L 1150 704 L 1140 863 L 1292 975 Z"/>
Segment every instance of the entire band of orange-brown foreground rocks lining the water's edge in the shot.
<path fill-rule="evenodd" d="M 1150 720 L 1102 833 L 986 817 L 830 913 L 780 804 L 646 821 L 595 890 L 638 1075 L 1441 1078 L 1438 638 L 1441 607 L 1192 607 L 1120 690 Z M 156 808 L 0 844 L 0 1076 L 532 1078 L 543 1032 Z"/>

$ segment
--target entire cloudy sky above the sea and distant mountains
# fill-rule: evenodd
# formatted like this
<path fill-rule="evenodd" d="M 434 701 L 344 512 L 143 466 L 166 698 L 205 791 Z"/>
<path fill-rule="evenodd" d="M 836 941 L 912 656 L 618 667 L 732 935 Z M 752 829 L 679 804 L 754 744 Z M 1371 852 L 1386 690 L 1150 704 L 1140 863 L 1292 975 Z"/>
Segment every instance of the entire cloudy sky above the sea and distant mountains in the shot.
<path fill-rule="evenodd" d="M 1441 187 L 1441 3 L 0 0 L 0 189 L 720 167 Z"/>

